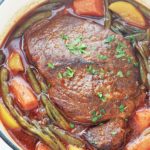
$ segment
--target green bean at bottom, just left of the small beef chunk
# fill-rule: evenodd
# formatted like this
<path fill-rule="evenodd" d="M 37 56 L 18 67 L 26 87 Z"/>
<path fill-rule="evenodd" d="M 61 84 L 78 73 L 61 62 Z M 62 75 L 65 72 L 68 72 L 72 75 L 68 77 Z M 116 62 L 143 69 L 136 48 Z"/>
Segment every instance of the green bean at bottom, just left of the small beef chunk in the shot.
<path fill-rule="evenodd" d="M 67 133 L 66 131 L 54 126 L 49 125 L 49 129 L 56 134 L 61 140 L 66 141 L 68 144 L 75 145 L 77 147 L 84 147 L 84 142 L 81 139 L 78 139 L 71 135 L 70 133 Z"/>

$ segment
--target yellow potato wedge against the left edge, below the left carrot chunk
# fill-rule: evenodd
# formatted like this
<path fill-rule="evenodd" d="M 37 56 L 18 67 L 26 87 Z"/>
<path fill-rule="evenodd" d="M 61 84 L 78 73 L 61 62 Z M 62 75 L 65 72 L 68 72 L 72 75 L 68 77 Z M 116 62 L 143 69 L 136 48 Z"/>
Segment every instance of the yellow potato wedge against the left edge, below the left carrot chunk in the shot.
<path fill-rule="evenodd" d="M 0 103 L 0 119 L 9 129 L 19 129 L 20 126 L 11 116 L 6 107 Z"/>

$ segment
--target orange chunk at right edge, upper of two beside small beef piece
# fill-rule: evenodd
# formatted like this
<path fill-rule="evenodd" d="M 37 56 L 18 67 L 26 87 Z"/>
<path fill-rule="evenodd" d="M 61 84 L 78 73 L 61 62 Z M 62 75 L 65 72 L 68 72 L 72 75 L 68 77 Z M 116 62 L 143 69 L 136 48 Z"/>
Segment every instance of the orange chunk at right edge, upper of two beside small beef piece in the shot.
<path fill-rule="evenodd" d="M 143 108 L 136 111 L 133 119 L 138 132 L 142 132 L 145 128 L 150 126 L 150 108 Z"/>

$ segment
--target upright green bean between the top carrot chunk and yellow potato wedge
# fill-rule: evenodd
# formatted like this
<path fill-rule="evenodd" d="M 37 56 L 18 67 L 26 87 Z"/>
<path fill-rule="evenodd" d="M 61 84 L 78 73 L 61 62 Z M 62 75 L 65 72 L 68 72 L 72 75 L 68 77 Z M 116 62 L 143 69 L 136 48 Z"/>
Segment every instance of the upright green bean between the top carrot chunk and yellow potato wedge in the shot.
<path fill-rule="evenodd" d="M 111 21 L 112 21 L 112 16 L 111 12 L 109 11 L 109 0 L 105 0 L 105 28 L 110 29 L 111 28 Z"/>

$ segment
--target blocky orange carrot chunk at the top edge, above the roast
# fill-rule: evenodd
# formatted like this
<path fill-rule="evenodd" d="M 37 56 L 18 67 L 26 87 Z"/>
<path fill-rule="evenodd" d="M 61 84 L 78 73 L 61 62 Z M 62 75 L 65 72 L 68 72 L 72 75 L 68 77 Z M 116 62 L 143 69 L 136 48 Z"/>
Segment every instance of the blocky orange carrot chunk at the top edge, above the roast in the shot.
<path fill-rule="evenodd" d="M 104 16 L 103 0 L 74 0 L 73 8 L 78 15 Z"/>

